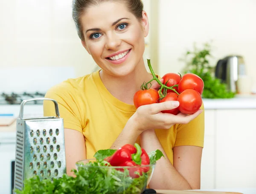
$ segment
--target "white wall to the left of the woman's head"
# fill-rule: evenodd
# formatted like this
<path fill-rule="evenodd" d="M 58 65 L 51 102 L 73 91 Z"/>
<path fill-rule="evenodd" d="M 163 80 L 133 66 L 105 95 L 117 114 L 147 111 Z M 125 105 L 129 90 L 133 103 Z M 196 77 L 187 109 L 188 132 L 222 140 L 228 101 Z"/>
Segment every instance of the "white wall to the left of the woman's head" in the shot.
<path fill-rule="evenodd" d="M 73 66 L 93 69 L 71 17 L 71 0 L 1 0 L 0 68 Z"/>

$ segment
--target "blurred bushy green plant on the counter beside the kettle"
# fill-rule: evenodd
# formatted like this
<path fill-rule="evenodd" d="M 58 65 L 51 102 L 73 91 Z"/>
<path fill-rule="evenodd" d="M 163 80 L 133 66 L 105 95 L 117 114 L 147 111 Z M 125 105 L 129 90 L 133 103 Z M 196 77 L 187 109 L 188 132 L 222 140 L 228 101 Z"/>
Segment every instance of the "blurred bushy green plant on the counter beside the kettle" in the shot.
<path fill-rule="evenodd" d="M 203 49 L 198 49 L 194 44 L 193 50 L 188 50 L 182 61 L 186 63 L 183 70 L 184 73 L 194 73 L 200 76 L 204 81 L 203 98 L 233 98 L 236 93 L 229 92 L 226 84 L 221 83 L 221 80 L 212 75 L 215 67 L 210 66 L 209 57 L 211 55 L 211 46 L 209 43 L 204 43 Z"/>

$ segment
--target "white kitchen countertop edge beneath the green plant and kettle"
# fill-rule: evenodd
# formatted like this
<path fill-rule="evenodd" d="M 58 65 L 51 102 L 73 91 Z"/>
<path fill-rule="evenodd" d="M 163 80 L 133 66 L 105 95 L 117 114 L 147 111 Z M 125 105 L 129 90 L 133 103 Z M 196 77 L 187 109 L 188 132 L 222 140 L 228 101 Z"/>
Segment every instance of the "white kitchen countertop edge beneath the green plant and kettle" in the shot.
<path fill-rule="evenodd" d="M 235 98 L 208 99 L 203 98 L 207 109 L 256 109 L 256 95 L 237 95 Z"/>

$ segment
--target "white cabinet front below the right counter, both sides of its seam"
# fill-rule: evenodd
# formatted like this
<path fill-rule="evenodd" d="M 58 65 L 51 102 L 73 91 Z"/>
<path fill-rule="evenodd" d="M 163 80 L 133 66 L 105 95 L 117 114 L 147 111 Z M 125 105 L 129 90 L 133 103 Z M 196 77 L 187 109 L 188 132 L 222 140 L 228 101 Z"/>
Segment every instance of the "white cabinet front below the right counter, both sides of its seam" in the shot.
<path fill-rule="evenodd" d="M 256 109 L 205 110 L 201 189 L 256 187 Z"/>

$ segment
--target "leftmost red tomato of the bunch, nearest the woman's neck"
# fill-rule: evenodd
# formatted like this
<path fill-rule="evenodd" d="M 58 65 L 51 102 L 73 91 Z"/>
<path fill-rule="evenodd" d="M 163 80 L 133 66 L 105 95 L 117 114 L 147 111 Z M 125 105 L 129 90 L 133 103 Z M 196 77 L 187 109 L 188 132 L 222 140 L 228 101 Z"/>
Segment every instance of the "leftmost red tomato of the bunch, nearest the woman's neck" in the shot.
<path fill-rule="evenodd" d="M 146 105 L 157 103 L 159 93 L 154 89 L 139 90 L 134 94 L 134 106 L 136 108 Z"/>

